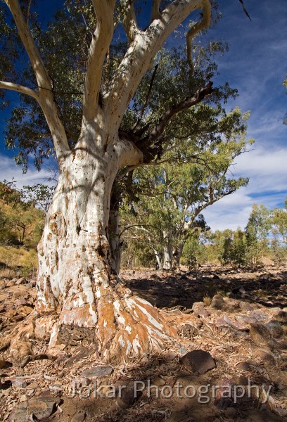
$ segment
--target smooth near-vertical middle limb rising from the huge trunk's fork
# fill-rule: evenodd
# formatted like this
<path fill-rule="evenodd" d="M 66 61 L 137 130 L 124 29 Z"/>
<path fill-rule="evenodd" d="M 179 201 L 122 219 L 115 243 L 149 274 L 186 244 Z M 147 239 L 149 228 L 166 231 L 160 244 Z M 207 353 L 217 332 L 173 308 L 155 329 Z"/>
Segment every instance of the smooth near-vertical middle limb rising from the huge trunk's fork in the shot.
<path fill-rule="evenodd" d="M 84 82 L 83 124 L 98 111 L 103 64 L 113 38 L 115 0 L 92 0 L 96 13 L 96 30 L 89 46 L 87 72 Z"/>

